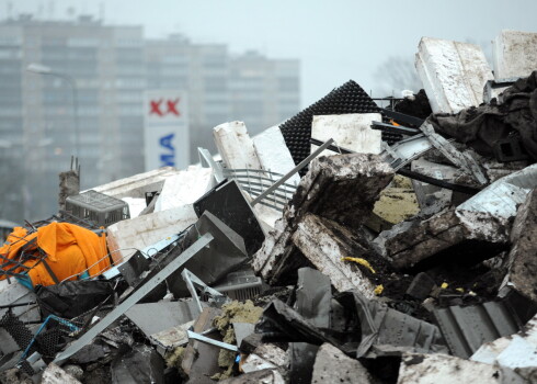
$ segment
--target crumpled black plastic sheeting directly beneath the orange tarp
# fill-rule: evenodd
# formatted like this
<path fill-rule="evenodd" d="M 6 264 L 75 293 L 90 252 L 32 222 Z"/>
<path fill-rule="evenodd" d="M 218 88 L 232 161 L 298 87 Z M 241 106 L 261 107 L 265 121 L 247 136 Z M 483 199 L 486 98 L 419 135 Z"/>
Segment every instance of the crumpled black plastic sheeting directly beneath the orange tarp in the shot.
<path fill-rule="evenodd" d="M 43 317 L 56 315 L 72 319 L 113 300 L 113 285 L 102 280 L 69 281 L 57 285 L 36 287 L 37 304 Z"/>

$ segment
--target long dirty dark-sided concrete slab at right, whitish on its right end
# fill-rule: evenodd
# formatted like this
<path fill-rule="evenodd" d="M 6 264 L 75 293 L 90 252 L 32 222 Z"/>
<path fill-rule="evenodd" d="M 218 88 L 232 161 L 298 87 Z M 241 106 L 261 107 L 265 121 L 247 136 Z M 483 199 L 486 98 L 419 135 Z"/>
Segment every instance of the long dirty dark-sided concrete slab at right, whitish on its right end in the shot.
<path fill-rule="evenodd" d="M 433 256 L 445 257 L 449 261 L 447 249 L 469 244 L 469 240 L 479 241 L 481 251 L 484 244 L 505 245 L 509 241 L 511 226 L 503 218 L 498 218 L 488 213 L 468 211 L 445 211 L 414 225 L 401 225 L 402 230 L 396 228 L 390 233 L 381 233 L 375 242 L 386 250 L 392 259 L 392 266 L 398 269 L 412 268 L 416 263 Z M 471 252 L 470 248 L 459 251 Z M 476 250 L 476 249 L 475 249 Z M 459 252 L 460 253 L 460 252 Z M 479 257 L 480 252 L 473 255 Z M 482 255 L 482 259 L 490 255 Z"/>

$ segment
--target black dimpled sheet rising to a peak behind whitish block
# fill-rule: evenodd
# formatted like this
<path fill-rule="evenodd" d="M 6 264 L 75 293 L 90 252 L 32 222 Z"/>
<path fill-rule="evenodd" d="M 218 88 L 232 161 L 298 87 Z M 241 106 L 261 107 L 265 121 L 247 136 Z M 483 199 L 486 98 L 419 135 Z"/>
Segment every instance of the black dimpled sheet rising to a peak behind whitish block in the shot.
<path fill-rule="evenodd" d="M 376 113 L 380 109 L 355 81 L 349 80 L 324 98 L 299 112 L 279 126 L 287 148 L 296 165 L 310 153 L 311 122 L 313 115 L 332 115 L 345 113 Z M 305 174 L 302 169 L 300 174 Z"/>

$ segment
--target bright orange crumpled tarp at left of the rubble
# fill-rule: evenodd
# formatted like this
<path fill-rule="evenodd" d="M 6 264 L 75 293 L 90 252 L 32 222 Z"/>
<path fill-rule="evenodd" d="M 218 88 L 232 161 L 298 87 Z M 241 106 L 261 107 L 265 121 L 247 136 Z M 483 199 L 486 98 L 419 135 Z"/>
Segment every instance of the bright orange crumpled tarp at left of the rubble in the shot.
<path fill-rule="evenodd" d="M 69 223 L 52 223 L 30 235 L 25 228 L 16 227 L 8 237 L 5 245 L 0 248 L 0 255 L 19 261 L 21 248 L 31 241 L 34 244 L 28 248 L 35 250 L 34 255 L 37 258 L 27 260 L 23 264 L 28 268 L 35 266 L 27 272 L 34 286 L 55 284 L 45 264 L 37 263 L 37 247 L 47 255 L 45 260 L 59 281 L 76 280 L 77 275 L 85 270 L 90 276 L 94 276 L 110 268 L 104 234 L 98 236 L 89 229 Z M 3 270 L 9 270 L 14 266 L 7 262 L 5 259 L 1 263 Z M 24 271 L 26 269 L 22 267 L 13 270 L 15 273 Z M 1 275 L 0 280 L 2 279 L 5 279 L 5 275 Z"/>

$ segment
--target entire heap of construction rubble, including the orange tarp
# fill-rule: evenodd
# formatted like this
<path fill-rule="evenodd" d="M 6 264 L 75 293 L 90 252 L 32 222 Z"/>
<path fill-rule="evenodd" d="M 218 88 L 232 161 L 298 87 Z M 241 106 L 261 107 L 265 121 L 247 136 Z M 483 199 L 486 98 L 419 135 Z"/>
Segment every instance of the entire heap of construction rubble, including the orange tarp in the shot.
<path fill-rule="evenodd" d="M 537 383 L 537 34 L 493 48 L 424 37 L 424 91 L 351 80 L 187 169 L 73 162 L 0 248 L 0 381 Z"/>

